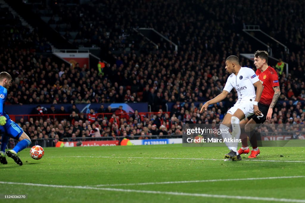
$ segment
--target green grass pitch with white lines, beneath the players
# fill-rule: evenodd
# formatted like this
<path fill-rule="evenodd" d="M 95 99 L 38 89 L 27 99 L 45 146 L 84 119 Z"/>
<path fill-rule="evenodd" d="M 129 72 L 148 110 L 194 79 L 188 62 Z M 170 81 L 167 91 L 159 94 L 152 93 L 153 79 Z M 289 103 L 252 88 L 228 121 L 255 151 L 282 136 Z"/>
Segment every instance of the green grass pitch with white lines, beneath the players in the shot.
<path fill-rule="evenodd" d="M 29 151 L 23 166 L 0 165 L 0 194 L 27 199 L 1 202 L 305 202 L 305 147 L 261 147 L 238 162 L 222 159 L 226 147 L 181 144 Z"/>

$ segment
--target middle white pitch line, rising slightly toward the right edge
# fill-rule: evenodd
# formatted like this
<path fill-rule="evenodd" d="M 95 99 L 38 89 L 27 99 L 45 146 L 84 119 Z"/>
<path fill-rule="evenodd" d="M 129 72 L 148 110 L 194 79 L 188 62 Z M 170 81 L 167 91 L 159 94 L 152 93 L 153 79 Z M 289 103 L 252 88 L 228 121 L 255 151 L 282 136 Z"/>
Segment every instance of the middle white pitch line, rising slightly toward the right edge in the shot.
<path fill-rule="evenodd" d="M 304 178 L 305 176 L 282 176 L 282 177 L 262 177 L 262 178 L 239 178 L 239 179 L 214 179 L 214 180 L 185 180 L 185 181 L 169 181 L 169 182 L 150 182 L 150 183 L 129 183 L 129 184 L 103 184 L 94 185 L 94 187 L 102 186 L 127 186 L 127 185 L 156 185 L 156 184 L 177 184 L 177 183 L 203 183 L 218 181 L 240 181 L 240 180 L 268 180 L 268 179 L 284 179 L 284 178 Z"/>

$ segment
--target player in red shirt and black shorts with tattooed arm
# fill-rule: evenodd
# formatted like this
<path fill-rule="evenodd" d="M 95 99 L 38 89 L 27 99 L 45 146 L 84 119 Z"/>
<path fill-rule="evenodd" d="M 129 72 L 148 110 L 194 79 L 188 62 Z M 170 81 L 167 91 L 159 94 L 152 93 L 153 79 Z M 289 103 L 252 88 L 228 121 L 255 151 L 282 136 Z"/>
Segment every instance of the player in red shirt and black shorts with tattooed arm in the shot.
<path fill-rule="evenodd" d="M 256 156 L 260 154 L 260 149 L 258 149 L 257 146 L 255 128 L 264 123 L 266 119 L 271 119 L 273 108 L 276 105 L 279 96 L 281 95 L 278 82 L 278 74 L 274 68 L 267 64 L 267 62 L 268 53 L 266 51 L 258 50 L 254 53 L 254 65 L 257 68 L 255 73 L 258 76 L 258 79 L 260 79 L 260 82 L 263 84 L 264 89 L 258 103 L 258 108 L 262 112 L 261 115 L 257 116 L 253 114 L 252 116 L 246 118 L 246 120 L 240 121 L 240 124 L 246 124 L 244 126 L 247 135 L 241 135 L 242 148 L 238 150 L 238 153 L 249 153 L 250 149 L 247 142 L 247 136 L 249 136 L 253 149 L 248 158 L 256 158 Z"/>

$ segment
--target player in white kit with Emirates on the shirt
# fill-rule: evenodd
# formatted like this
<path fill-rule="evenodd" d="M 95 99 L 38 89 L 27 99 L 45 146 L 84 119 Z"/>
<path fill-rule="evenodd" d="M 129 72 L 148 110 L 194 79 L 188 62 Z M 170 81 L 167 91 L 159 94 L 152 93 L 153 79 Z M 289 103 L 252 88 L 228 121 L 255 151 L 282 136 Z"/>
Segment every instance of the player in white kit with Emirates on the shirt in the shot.
<path fill-rule="evenodd" d="M 239 65 L 239 58 L 237 56 L 229 56 L 226 59 L 225 69 L 231 75 L 228 77 L 222 93 L 217 95 L 214 99 L 207 101 L 202 106 L 200 113 L 207 110 L 209 105 L 224 100 L 233 87 L 236 89 L 238 100 L 224 116 L 220 128 L 223 129 L 221 131 L 224 132 L 221 134 L 223 142 L 226 143 L 230 150 L 224 157 L 231 159 L 232 161 L 239 161 L 242 159 L 237 152 L 237 145 L 240 137 L 239 121 L 252 114 L 261 115 L 257 105 L 263 92 L 263 85 L 251 68 L 241 67 Z M 257 88 L 256 93 L 254 87 Z M 228 132 L 231 124 L 233 128 L 232 135 Z"/>

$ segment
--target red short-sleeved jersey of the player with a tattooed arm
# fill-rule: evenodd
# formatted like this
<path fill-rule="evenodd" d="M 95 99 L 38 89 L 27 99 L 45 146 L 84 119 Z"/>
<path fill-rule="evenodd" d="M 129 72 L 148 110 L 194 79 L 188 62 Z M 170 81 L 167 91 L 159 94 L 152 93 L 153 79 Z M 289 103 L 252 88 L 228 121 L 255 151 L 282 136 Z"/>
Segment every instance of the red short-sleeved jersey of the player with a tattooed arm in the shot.
<path fill-rule="evenodd" d="M 264 72 L 257 69 L 255 73 L 264 86 L 262 96 L 260 97 L 260 103 L 270 106 L 274 95 L 273 87 L 280 86 L 278 82 L 278 74 L 273 68 L 271 68 L 271 66 L 269 66 Z"/>

